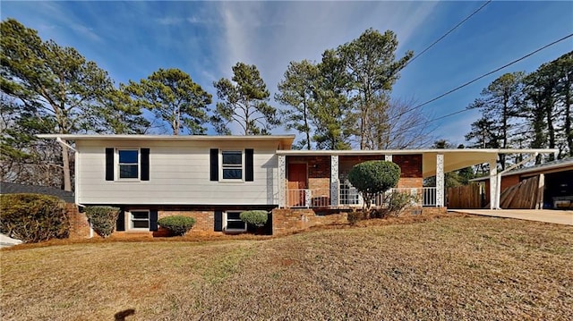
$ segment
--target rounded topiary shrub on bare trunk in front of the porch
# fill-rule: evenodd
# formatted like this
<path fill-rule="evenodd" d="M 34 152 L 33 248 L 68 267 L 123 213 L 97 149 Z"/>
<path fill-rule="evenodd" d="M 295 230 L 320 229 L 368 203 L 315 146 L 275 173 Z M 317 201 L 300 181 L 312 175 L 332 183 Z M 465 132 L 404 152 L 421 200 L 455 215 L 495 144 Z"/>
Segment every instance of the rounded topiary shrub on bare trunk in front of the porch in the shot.
<path fill-rule="evenodd" d="M 372 199 L 396 186 L 399 179 L 400 167 L 387 161 L 363 162 L 348 173 L 348 181 L 362 194 L 365 209 L 370 209 Z"/>

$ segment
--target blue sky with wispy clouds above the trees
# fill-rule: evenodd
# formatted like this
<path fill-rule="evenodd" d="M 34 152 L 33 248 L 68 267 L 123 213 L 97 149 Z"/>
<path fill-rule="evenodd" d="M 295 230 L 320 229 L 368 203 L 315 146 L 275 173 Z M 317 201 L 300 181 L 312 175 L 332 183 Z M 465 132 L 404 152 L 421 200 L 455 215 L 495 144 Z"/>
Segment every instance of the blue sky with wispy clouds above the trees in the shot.
<path fill-rule="evenodd" d="M 319 61 L 325 49 L 368 28 L 396 32 L 398 56 L 417 54 L 483 3 L 4 0 L 0 10 L 3 20 L 15 18 L 44 39 L 75 47 L 116 84 L 146 78 L 158 68 L 179 68 L 215 97 L 213 81 L 230 78 L 236 62 L 256 64 L 274 92 L 289 62 Z M 423 103 L 572 32 L 573 2 L 493 1 L 410 63 L 392 96 Z M 419 112 L 432 119 L 463 109 L 501 74 L 533 72 L 571 50 L 568 38 Z M 476 117 L 475 111 L 465 112 L 429 126 L 437 138 L 458 144 Z"/>

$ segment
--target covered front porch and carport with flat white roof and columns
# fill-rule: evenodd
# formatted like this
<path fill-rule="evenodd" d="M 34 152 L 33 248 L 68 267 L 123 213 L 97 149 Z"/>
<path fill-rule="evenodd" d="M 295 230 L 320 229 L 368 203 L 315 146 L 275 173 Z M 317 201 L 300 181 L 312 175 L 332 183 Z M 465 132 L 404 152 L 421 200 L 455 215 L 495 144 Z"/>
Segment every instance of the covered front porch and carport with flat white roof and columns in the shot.
<path fill-rule="evenodd" d="M 544 149 L 414 149 L 414 150 L 279 150 L 278 205 L 280 208 L 362 207 L 360 193 L 348 182 L 352 166 L 369 160 L 396 163 L 398 186 L 388 192 L 415 196 L 419 207 L 445 207 L 444 173 L 487 163 L 490 165 L 492 208 L 500 189 L 496 161 L 500 153 L 540 153 Z M 436 177 L 436 186 L 423 187 L 423 179 Z M 373 203 L 383 205 L 381 198 Z"/>

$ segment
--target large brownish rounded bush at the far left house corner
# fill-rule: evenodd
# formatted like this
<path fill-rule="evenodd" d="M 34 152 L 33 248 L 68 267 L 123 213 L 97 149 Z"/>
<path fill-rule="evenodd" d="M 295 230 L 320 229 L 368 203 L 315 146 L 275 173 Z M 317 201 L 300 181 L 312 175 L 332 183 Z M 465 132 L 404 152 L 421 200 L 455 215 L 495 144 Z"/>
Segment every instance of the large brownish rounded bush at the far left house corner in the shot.
<path fill-rule="evenodd" d="M 62 199 L 41 194 L 0 195 L 0 232 L 25 243 L 63 239 L 70 222 Z"/>

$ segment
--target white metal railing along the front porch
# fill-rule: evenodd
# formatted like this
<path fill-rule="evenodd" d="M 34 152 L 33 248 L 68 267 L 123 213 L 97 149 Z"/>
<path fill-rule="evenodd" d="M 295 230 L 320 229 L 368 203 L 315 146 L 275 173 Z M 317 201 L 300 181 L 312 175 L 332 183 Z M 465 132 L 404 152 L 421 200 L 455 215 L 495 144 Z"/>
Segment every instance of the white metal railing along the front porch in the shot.
<path fill-rule="evenodd" d="M 400 188 L 387 193 L 407 193 L 415 197 L 415 205 L 423 207 L 436 206 L 436 188 Z M 374 199 L 372 205 L 380 206 L 382 197 Z M 338 204 L 332 204 L 330 190 L 295 189 L 286 190 L 286 207 L 362 207 L 363 199 L 354 187 L 341 186 L 338 192 Z"/>

